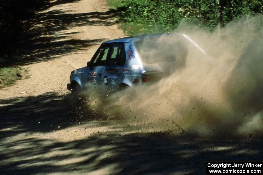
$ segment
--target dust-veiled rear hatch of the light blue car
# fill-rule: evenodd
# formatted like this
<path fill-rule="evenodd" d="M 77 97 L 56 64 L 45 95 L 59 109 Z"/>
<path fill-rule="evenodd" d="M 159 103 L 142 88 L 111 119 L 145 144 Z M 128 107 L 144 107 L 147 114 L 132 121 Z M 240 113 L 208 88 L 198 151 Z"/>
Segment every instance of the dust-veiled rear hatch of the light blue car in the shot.
<path fill-rule="evenodd" d="M 143 83 L 159 81 L 186 63 L 188 48 L 181 35 L 146 35 L 134 44 L 143 63 Z"/>

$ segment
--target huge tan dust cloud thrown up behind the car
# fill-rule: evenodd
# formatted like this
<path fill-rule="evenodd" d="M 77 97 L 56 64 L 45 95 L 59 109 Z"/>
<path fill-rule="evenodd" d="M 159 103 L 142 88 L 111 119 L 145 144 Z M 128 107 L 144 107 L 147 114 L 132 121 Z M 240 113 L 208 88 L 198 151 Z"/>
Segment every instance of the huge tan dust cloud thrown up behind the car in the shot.
<path fill-rule="evenodd" d="M 231 22 L 213 33 L 181 24 L 175 32 L 187 35 L 206 53 L 190 42 L 178 44 L 178 38 L 184 38 L 181 35 L 164 34 L 156 43 L 141 42 L 141 55 L 148 56 L 143 61 L 160 65 L 162 79 L 109 96 L 101 90 L 89 91 L 87 106 L 107 119 L 120 118 L 126 124 L 154 131 L 262 137 L 260 21 L 262 17 Z M 150 49 L 154 44 L 158 52 Z M 158 62 L 156 58 L 166 60 Z M 166 64 L 169 59 L 174 64 Z"/>

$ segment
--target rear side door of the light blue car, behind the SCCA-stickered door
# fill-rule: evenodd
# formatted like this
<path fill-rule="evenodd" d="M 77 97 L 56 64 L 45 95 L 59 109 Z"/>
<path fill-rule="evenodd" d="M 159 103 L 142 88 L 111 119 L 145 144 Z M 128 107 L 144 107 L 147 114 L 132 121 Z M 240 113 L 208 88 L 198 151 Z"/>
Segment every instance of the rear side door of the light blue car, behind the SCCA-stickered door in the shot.
<path fill-rule="evenodd" d="M 121 73 L 126 60 L 124 43 L 112 43 L 110 53 L 106 61 L 103 82 L 108 87 L 118 87 L 121 81 Z"/>

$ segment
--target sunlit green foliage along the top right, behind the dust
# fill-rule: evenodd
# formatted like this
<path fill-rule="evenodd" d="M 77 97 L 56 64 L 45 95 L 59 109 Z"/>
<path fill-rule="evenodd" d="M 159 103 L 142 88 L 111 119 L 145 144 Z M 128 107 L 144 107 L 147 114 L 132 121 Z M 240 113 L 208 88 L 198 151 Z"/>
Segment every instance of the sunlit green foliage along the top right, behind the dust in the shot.
<path fill-rule="evenodd" d="M 242 16 L 263 15 L 261 0 L 108 0 L 108 4 L 125 7 L 119 20 L 128 35 L 173 31 L 182 20 L 213 31 L 220 11 L 222 27 Z"/>

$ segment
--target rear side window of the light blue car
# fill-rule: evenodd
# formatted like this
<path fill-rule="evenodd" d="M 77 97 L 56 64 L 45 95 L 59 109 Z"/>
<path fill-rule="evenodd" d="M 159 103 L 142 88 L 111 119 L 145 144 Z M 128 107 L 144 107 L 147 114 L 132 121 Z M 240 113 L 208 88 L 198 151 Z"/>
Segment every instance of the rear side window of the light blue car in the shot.
<path fill-rule="evenodd" d="M 125 64 L 126 54 L 124 44 L 112 44 L 108 59 L 109 66 L 123 66 Z"/>

